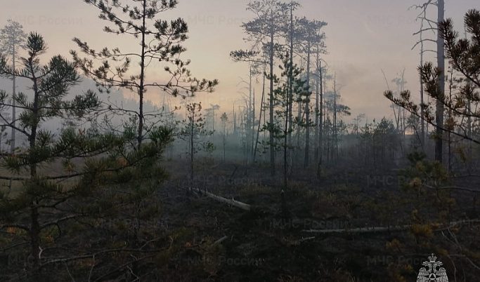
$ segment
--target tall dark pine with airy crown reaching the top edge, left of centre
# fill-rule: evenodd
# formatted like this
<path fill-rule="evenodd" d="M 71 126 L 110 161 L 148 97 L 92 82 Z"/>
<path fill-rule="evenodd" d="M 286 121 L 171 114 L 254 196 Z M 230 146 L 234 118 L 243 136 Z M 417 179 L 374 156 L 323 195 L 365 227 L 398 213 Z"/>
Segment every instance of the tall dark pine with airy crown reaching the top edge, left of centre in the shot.
<path fill-rule="evenodd" d="M 104 32 L 128 34 L 140 41 L 138 52 L 128 53 L 120 51 L 119 48 L 103 48 L 101 51 L 95 51 L 86 42 L 74 38 L 73 41 L 83 53 L 96 60 L 103 60 L 99 67 L 96 67 L 93 60 L 79 58 L 77 52 L 70 51 L 75 62 L 82 67 L 84 74 L 94 79 L 100 86 L 108 89 L 121 87 L 138 94 L 138 112 L 119 111 L 122 114 L 136 116 L 138 148 L 141 147 L 145 134 L 159 120 L 157 119 L 159 113 L 143 112 L 144 95 L 148 88 L 154 88 L 174 97 L 181 95 L 186 98 L 198 91 L 212 92 L 214 86 L 218 84 L 216 79 L 207 81 L 192 77 L 190 70 L 187 69 L 190 60 L 180 58 L 186 51 L 181 43 L 188 39 L 186 22 L 182 18 L 171 21 L 157 18 L 160 13 L 176 8 L 178 1 L 126 1 L 133 2 L 133 5 L 123 4 L 122 1 L 117 0 L 86 0 L 85 2 L 100 10 L 100 19 L 112 23 L 112 27 L 104 27 Z M 135 69 L 136 74 L 129 74 L 131 63 L 134 62 L 132 58 L 139 62 L 138 69 Z M 118 62 L 119 65 L 112 65 L 114 62 Z M 164 64 L 164 71 L 170 78 L 162 83 L 146 81 L 147 69 L 152 62 Z M 153 122 L 145 126 L 148 118 L 153 119 Z"/>

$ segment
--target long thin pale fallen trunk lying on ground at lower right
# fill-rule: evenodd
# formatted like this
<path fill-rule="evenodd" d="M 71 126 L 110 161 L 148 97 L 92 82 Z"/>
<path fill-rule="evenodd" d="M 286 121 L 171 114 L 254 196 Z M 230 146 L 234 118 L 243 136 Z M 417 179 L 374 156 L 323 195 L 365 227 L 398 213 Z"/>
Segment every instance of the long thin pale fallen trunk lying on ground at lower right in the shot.
<path fill-rule="evenodd" d="M 480 220 L 460 220 L 450 222 L 448 227 L 439 228 L 442 224 L 432 223 L 429 224 L 430 227 L 434 229 L 434 231 L 442 231 L 446 230 L 451 227 L 455 227 L 459 224 L 472 224 L 472 223 L 480 223 Z M 397 225 L 394 227 L 360 227 L 360 228 L 353 228 L 353 229 L 307 229 L 304 232 L 309 233 L 320 233 L 320 234 L 332 234 L 332 233 L 375 233 L 375 232 L 386 232 L 386 231 L 405 231 L 411 229 L 413 225 Z"/>

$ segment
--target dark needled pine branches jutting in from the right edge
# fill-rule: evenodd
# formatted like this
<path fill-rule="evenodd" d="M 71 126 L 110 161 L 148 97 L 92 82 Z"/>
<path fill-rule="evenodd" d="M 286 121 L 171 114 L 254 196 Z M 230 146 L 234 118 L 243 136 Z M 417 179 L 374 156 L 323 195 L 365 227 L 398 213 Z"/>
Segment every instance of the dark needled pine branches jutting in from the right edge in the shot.
<path fill-rule="evenodd" d="M 450 60 L 450 65 L 456 71 L 460 72 L 465 79 L 462 81 L 460 91 L 450 100 L 439 84 L 440 76 L 444 76 L 441 67 L 434 67 L 432 62 L 426 62 L 424 65 L 418 67 L 420 78 L 425 87 L 425 92 L 431 98 L 441 103 L 441 107 L 451 111 L 453 116 L 462 121 L 467 117 L 478 119 L 480 113 L 478 110 L 473 111 L 476 107 L 469 107 L 478 105 L 480 97 L 478 89 L 480 87 L 480 63 L 478 60 L 480 53 L 480 11 L 472 9 L 465 15 L 465 26 L 467 32 L 471 34 L 471 39 L 459 39 L 458 32 L 453 29 L 453 21 L 447 19 L 439 23 L 439 31 L 446 47 L 446 58 Z M 384 95 L 389 98 L 396 105 L 407 109 L 412 114 L 420 116 L 420 118 L 427 121 L 427 123 L 440 128 L 442 131 L 452 133 L 459 137 L 465 138 L 477 144 L 480 140 L 468 134 L 468 131 L 462 126 L 461 122 L 455 122 L 455 129 L 448 129 L 443 126 L 443 123 L 438 123 L 436 114 L 432 114 L 432 106 L 429 104 L 417 105 L 410 99 L 410 91 L 405 90 L 401 93 L 401 98 L 394 98 L 393 93 L 387 90 Z M 424 110 L 424 116 L 421 115 L 420 109 Z M 442 114 L 443 116 L 443 114 Z M 437 161 L 441 161 L 437 159 Z"/>

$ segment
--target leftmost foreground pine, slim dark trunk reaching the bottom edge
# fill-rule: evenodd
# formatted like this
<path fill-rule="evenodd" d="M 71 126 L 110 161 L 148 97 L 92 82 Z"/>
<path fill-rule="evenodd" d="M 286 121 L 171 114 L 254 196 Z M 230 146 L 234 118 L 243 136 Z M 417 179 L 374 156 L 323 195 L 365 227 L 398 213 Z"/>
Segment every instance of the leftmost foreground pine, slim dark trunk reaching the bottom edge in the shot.
<path fill-rule="evenodd" d="M 41 163 L 52 161 L 55 156 L 67 153 L 69 149 L 83 149 L 76 148 L 77 145 L 71 143 L 77 140 L 78 136 L 75 133 L 63 133 L 60 141 L 56 142 L 53 133 L 41 129 L 40 125 L 42 121 L 64 114 L 82 117 L 87 110 L 96 109 L 99 101 L 91 92 L 79 95 L 71 102 L 64 101 L 67 90 L 79 81 L 74 64 L 56 56 L 51 58 L 48 65 L 40 65 L 39 56 L 46 52 L 46 43 L 39 34 L 29 34 L 27 50 L 29 57 L 22 58 L 20 70 L 9 67 L 5 57 L 0 59 L 1 76 L 29 79 L 32 82 L 33 91 L 32 101 L 28 100 L 25 93 L 15 95 L 12 100 L 18 106 L 8 104 L 7 93 L 4 90 L 0 92 L 2 107 L 23 109 L 19 117 L 20 124 L 8 123 L 4 116 L 1 116 L 4 125 L 22 133 L 29 141 L 25 154 L 13 154 L 4 159 L 4 166 L 15 173 L 20 173 L 22 168 L 25 168 L 29 176 L 20 178 L 25 181 L 25 185 L 16 199 L 9 198 L 9 195 L 2 195 L 1 214 L 8 221 L 14 222 L 15 213 L 25 211 L 30 213 L 30 224 L 10 224 L 10 226 L 27 232 L 30 238 L 30 255 L 32 255 L 30 278 L 33 281 L 39 281 L 41 231 L 53 224 L 42 222 L 40 208 L 45 205 L 44 202 L 55 201 L 56 194 L 63 194 L 63 192 L 60 187 L 48 182 L 49 177 L 40 175 L 37 168 Z M 2 228 L 5 227 L 6 225 L 2 226 Z"/>

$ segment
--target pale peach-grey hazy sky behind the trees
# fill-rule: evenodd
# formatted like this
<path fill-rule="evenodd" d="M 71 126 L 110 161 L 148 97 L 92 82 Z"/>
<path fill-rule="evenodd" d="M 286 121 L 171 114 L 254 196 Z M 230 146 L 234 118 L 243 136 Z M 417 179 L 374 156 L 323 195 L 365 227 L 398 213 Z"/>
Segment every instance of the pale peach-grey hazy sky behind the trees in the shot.
<path fill-rule="evenodd" d="M 323 28 L 327 54 L 322 58 L 330 67 L 330 74 L 336 74 L 337 85 L 343 86 L 339 91 L 342 103 L 351 107 L 351 118 L 345 121 L 350 122 L 358 114 L 366 114 L 369 121 L 383 116 L 393 119 L 391 102 L 383 97 L 387 83 L 382 70 L 389 87 L 394 88 L 391 79 L 405 69 L 406 88 L 413 97 L 420 96 L 417 75 L 420 49 L 411 50 L 418 40 L 413 33 L 420 28 L 420 22 L 415 20 L 420 11 L 409 7 L 423 1 L 299 0 L 301 8 L 296 11 L 297 16 L 327 22 Z M 234 103 L 235 107 L 240 105 L 240 92 L 246 93 L 241 81 L 247 79 L 248 65 L 233 62 L 229 53 L 250 46 L 241 27 L 242 22 L 254 18 L 252 12 L 246 11 L 248 3 L 249 0 L 179 0 L 177 8 L 160 14 L 160 18 L 181 17 L 188 23 L 189 39 L 183 43 L 187 51 L 182 58 L 191 60 L 193 76 L 220 82 L 214 93 L 201 93 L 196 99 L 203 105 L 219 104 L 221 112 L 231 112 Z M 456 29 L 463 31 L 463 16 L 471 8 L 480 9 L 480 2 L 446 1 L 445 15 L 453 19 Z M 436 20 L 436 7 L 429 11 Z M 48 58 L 56 54 L 71 58 L 70 50 L 79 51 L 73 37 L 97 50 L 105 46 L 118 46 L 122 51 L 140 48 L 131 36 L 105 34 L 102 29 L 107 22 L 98 15 L 95 7 L 82 0 L 0 0 L 0 27 L 11 19 L 20 22 L 25 32 L 38 32 L 48 44 Z M 424 36 L 434 39 L 436 35 Z M 426 43 L 426 48 L 436 47 L 434 43 Z M 434 53 L 427 53 L 425 60 L 436 62 Z M 148 79 L 164 78 L 162 69 L 160 64 L 150 65 Z M 261 93 L 260 85 L 255 88 Z M 331 89 L 332 83 L 327 88 Z M 155 90 L 146 97 L 156 104 L 163 100 L 163 95 Z M 169 100 L 176 105 L 180 99 Z"/>

